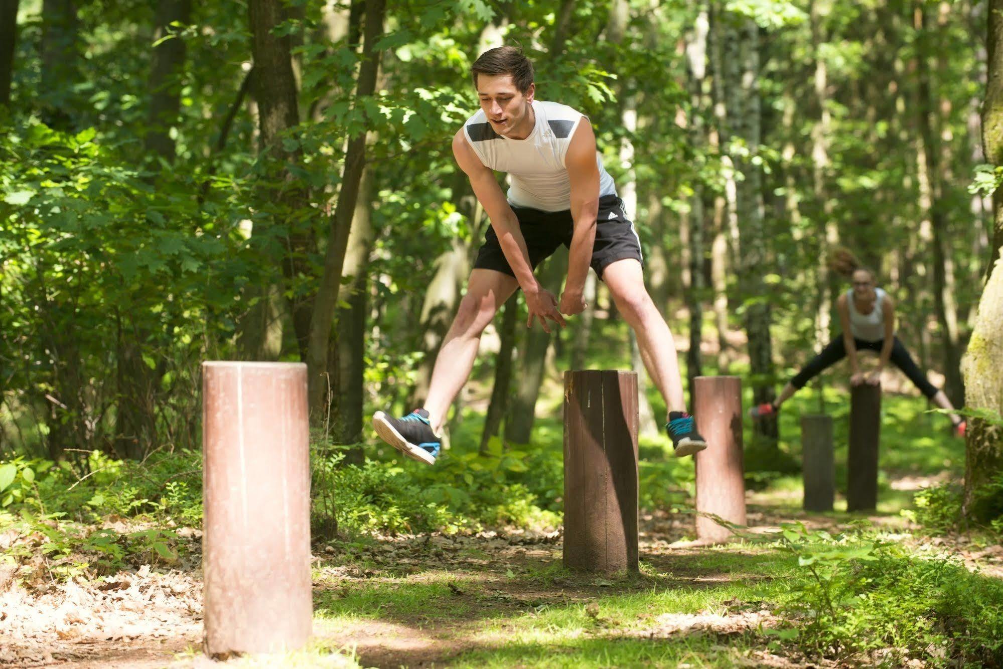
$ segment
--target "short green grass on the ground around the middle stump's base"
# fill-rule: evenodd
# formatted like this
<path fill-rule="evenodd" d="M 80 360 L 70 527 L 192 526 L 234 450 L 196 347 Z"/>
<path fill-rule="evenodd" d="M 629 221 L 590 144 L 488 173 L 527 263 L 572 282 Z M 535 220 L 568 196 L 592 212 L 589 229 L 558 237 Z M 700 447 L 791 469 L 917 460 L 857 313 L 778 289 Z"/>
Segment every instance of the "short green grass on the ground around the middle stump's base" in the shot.
<path fill-rule="evenodd" d="M 690 617 L 759 611 L 794 576 L 786 555 L 736 548 L 744 553 L 654 555 L 641 574 L 621 578 L 579 576 L 542 561 L 505 573 L 429 568 L 351 587 L 321 577 L 315 612 L 330 631 L 391 623 L 398 637 L 424 640 L 410 649 L 412 660 L 438 649 L 455 667 L 732 666 L 761 651 L 762 636 L 693 629 Z"/>

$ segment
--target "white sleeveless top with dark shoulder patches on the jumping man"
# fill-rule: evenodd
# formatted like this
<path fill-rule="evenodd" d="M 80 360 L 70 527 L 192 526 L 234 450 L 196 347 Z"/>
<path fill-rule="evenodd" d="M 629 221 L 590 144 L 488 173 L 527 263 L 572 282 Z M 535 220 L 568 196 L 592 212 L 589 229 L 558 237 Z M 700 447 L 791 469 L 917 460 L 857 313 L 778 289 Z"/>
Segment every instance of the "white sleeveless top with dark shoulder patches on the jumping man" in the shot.
<path fill-rule="evenodd" d="M 484 110 L 463 123 L 463 134 L 485 168 L 507 172 L 512 181 L 509 203 L 545 212 L 571 209 L 571 180 L 565 166 L 568 144 L 584 115 L 566 104 L 533 101 L 536 124 L 526 139 L 510 139 L 497 134 L 487 122 Z M 599 197 L 617 194 L 613 178 L 599 168 Z"/>

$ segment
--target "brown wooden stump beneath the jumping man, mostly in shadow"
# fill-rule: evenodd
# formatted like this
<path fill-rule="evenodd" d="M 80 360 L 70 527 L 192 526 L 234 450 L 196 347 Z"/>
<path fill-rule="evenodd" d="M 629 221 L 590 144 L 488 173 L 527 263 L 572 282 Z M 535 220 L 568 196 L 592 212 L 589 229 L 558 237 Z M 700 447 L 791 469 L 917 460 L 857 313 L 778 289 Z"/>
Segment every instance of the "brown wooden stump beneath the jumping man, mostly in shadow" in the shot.
<path fill-rule="evenodd" d="M 565 372 L 564 564 L 637 571 L 637 374 Z"/>

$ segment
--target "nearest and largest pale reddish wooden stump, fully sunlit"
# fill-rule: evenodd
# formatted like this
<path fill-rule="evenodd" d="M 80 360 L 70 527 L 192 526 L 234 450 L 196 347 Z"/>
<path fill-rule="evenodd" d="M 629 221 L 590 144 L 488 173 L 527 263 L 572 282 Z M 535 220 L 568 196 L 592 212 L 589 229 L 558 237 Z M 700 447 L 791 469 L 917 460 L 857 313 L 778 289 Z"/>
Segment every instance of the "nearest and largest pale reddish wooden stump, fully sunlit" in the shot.
<path fill-rule="evenodd" d="M 313 618 L 306 365 L 202 373 L 204 650 L 299 648 Z"/>

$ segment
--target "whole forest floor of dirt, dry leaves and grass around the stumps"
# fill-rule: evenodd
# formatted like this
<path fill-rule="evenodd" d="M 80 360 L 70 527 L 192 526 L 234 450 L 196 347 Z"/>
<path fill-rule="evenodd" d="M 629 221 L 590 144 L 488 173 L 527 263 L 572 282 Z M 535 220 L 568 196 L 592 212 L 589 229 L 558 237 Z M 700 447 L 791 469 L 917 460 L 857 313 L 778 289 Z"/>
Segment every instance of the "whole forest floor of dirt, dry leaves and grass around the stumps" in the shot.
<path fill-rule="evenodd" d="M 927 483 L 892 481 L 893 489 Z M 797 492 L 749 492 L 755 533 L 800 521 L 840 530 L 860 520 L 805 515 Z M 870 521 L 917 550 L 961 557 L 1003 579 L 1003 548 L 964 537 L 923 540 L 905 520 Z M 643 515 L 641 572 L 579 576 L 561 567 L 558 533 L 423 535 L 315 547 L 314 641 L 286 657 L 233 666 L 834 666 L 777 642 L 772 609 L 796 569 L 775 544 L 698 546 L 692 518 Z M 0 545 L 3 544 L 0 538 Z M 0 666 L 215 666 L 202 657 L 198 533 L 177 569 L 27 588 L 0 565 Z"/>

